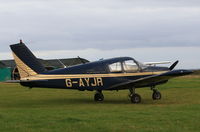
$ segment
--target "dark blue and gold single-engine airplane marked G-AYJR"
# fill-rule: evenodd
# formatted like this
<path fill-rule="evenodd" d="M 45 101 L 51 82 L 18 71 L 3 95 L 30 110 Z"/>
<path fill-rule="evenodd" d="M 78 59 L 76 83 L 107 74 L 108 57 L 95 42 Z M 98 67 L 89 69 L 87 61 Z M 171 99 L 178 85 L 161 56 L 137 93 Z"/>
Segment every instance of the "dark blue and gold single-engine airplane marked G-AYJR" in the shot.
<path fill-rule="evenodd" d="M 142 64 L 130 57 L 118 57 L 47 71 L 33 53 L 21 41 L 10 45 L 20 74 L 20 84 L 26 87 L 60 88 L 96 91 L 95 101 L 103 101 L 103 90 L 130 90 L 132 103 L 140 103 L 135 89 L 150 87 L 153 100 L 161 99 L 156 85 L 169 79 L 189 75 L 192 70 L 173 70 L 178 61 L 168 67 Z M 162 63 L 162 62 L 161 62 Z M 163 62 L 168 63 L 168 62 Z"/>

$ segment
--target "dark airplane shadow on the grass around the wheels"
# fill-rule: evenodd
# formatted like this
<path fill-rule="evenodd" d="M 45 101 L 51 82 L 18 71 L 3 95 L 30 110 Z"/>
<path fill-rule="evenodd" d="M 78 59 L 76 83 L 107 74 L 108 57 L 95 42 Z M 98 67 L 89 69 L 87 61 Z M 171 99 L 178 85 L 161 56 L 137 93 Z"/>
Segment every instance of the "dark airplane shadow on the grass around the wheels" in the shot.
<path fill-rule="evenodd" d="M 67 98 L 67 99 L 63 99 L 63 98 L 55 98 L 55 99 L 40 99 L 40 100 L 26 100 L 24 102 L 16 102 L 15 104 L 7 104 L 9 107 L 13 107 L 13 108 L 54 108 L 54 107 L 65 107 L 67 105 L 72 106 L 74 105 L 74 107 L 76 106 L 80 106 L 80 105 L 121 105 L 121 104 L 125 104 L 125 105 L 131 105 L 132 103 L 126 102 L 125 100 L 114 100 L 114 99 L 108 99 L 104 102 L 94 102 L 91 99 L 77 99 L 77 98 Z M 151 106 L 157 106 L 157 105 L 173 105 L 176 104 L 176 102 L 172 102 L 172 101 L 152 101 L 151 99 L 144 99 L 144 101 L 142 101 L 140 103 L 140 105 L 151 105 Z M 7 106 L 6 105 L 6 106 Z M 139 105 L 139 106 L 140 106 Z M 136 105 L 137 106 L 137 105 Z"/>

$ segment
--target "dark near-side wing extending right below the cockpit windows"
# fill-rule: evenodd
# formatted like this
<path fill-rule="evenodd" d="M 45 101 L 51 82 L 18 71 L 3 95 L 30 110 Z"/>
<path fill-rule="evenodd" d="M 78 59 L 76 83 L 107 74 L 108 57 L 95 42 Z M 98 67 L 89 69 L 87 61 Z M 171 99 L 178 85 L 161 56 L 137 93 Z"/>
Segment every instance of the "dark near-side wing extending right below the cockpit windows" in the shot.
<path fill-rule="evenodd" d="M 110 89 L 111 90 L 112 89 L 129 89 L 131 87 L 140 88 L 140 87 L 155 86 L 158 84 L 165 83 L 171 78 L 189 75 L 192 73 L 193 71 L 191 70 L 173 70 L 166 73 L 143 77 L 140 79 L 131 80 L 129 82 L 117 84 L 117 85 L 112 86 Z"/>

